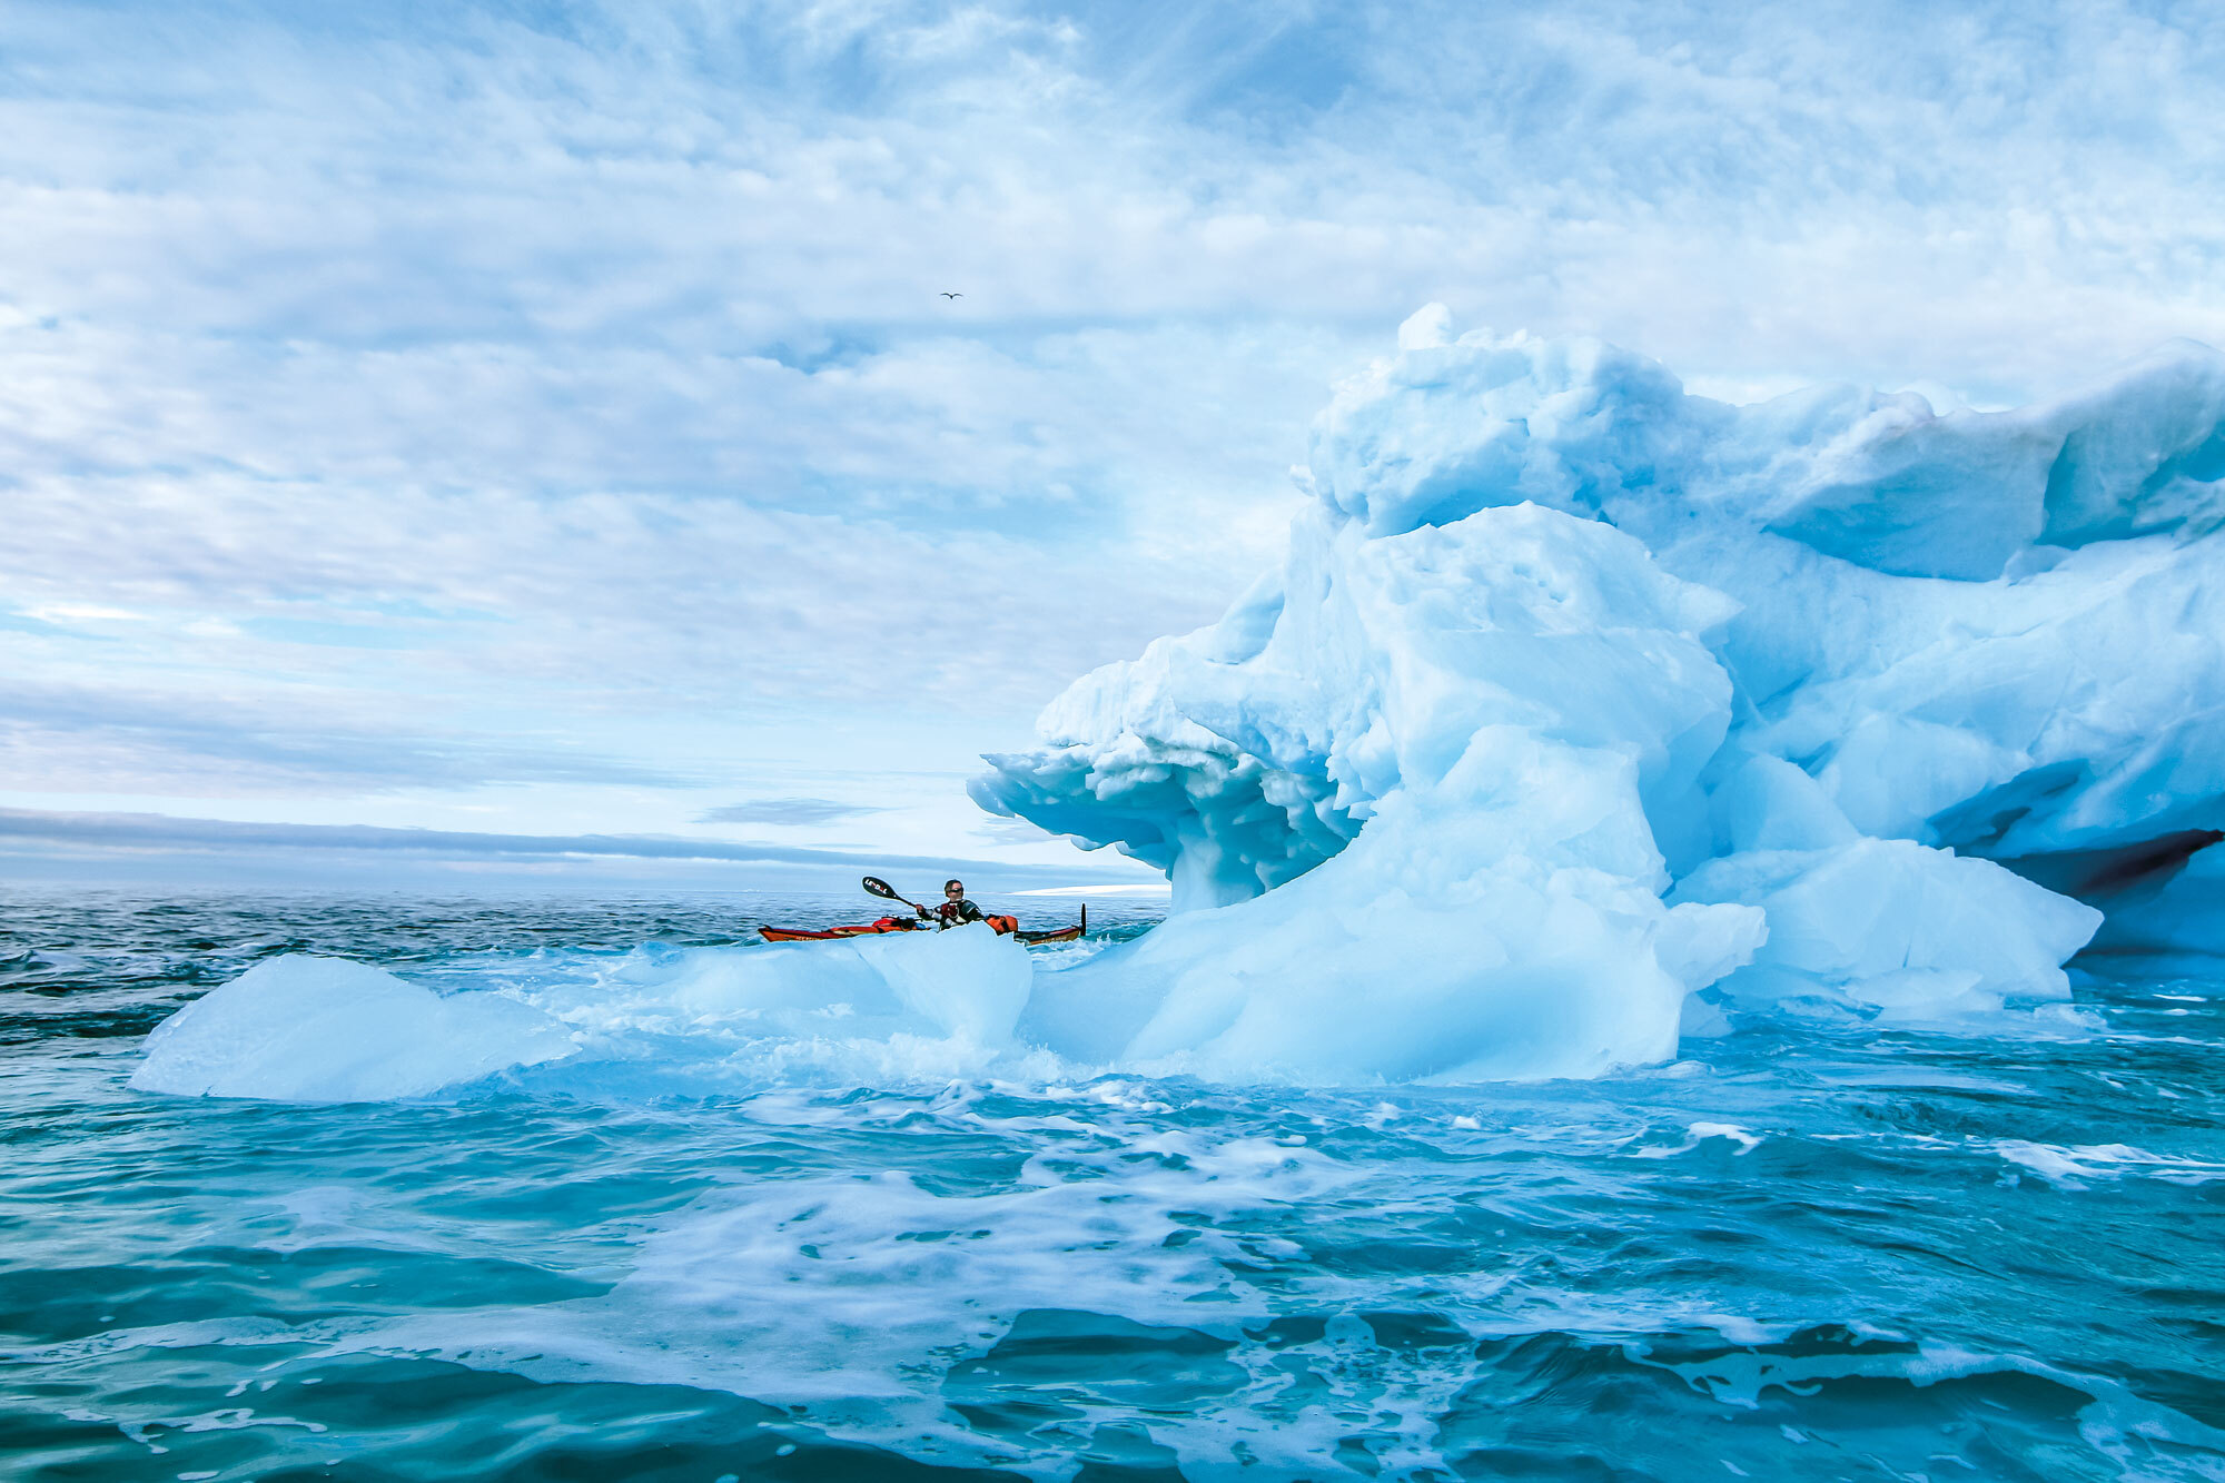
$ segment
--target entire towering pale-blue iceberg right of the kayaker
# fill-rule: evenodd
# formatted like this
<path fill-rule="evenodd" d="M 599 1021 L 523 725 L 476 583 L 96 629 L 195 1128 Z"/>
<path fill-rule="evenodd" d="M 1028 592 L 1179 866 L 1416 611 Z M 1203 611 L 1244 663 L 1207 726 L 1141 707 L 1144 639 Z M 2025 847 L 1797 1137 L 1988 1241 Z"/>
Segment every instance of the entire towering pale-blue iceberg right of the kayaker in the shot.
<path fill-rule="evenodd" d="M 1277 572 L 977 779 L 1175 884 L 1024 1027 L 1328 1071 L 1440 1024 L 1371 1064 L 1551 1076 L 1667 1055 L 1700 989 L 2060 1000 L 2103 922 L 2069 893 L 2154 895 L 2225 828 L 2201 345 L 2016 412 L 1736 407 L 1433 305 L 1337 387 L 1304 481 Z"/>

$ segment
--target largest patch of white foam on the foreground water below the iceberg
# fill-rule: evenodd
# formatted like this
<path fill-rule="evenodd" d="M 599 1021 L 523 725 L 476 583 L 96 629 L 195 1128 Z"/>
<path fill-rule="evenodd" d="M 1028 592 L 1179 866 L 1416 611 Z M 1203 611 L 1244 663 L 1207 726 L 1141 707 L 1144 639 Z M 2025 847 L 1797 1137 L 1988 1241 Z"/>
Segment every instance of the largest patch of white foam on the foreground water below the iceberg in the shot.
<path fill-rule="evenodd" d="M 1015 1465 L 1024 1450 L 950 1416 L 952 1365 L 1010 1343 L 1030 1312 L 1177 1354 L 1184 1336 L 1235 1340 L 1273 1314 L 1244 1274 L 1304 1258 L 1235 1216 L 1333 1198 L 1357 1178 L 1270 1138 L 1119 1127 L 1032 1158 L 997 1194 L 937 1194 L 903 1173 L 739 1185 L 659 1222 L 603 1298 L 481 1312 L 469 1338 L 427 1316 L 376 1343 L 536 1378 L 728 1389 L 797 1407 L 828 1436 Z M 1195 1363 L 1224 1363 L 1233 1385 L 1268 1378 Z M 1426 1381 L 1417 1425 L 1451 1389 L 1457 1374 Z M 1197 1476 L 1233 1467 L 1233 1441 L 1290 1465 L 1333 1445 L 1319 1425 L 1242 1410 L 1181 1432 Z"/>

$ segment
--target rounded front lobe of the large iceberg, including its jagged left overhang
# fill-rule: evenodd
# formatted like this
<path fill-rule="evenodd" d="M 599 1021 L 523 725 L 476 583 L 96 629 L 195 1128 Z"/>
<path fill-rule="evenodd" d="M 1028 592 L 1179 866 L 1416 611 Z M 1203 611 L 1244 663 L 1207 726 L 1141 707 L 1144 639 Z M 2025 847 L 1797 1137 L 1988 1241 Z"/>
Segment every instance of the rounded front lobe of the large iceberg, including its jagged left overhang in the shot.
<path fill-rule="evenodd" d="M 1046 975 L 1021 1033 L 1337 1082 L 1669 1055 L 1684 993 L 1760 940 L 1749 906 L 1664 904 L 1646 828 L 1646 799 L 1691 793 L 1731 721 L 1702 635 L 1733 608 L 1535 505 L 1304 537 L 1297 601 L 1277 592 L 1255 652 L 1155 644 L 1050 721 L 1110 748 L 1001 775 L 1057 811 L 1068 788 L 1099 799 L 1197 909 Z M 1173 737 L 1130 724 L 1153 710 Z"/>

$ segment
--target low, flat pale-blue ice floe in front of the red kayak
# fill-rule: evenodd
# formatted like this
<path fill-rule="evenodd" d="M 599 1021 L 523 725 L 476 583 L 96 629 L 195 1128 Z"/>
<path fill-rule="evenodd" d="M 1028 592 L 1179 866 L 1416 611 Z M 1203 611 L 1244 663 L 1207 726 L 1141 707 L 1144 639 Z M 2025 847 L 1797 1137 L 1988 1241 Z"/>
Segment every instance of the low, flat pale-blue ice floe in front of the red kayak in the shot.
<path fill-rule="evenodd" d="M 570 966 L 449 966 L 436 993 L 287 953 L 147 1035 L 138 1091 L 392 1102 L 538 1069 L 645 1096 L 901 1084 L 1019 1069 L 1028 951 L 988 926 L 799 946 L 636 951 Z M 501 984 L 501 986 L 490 986 Z"/>

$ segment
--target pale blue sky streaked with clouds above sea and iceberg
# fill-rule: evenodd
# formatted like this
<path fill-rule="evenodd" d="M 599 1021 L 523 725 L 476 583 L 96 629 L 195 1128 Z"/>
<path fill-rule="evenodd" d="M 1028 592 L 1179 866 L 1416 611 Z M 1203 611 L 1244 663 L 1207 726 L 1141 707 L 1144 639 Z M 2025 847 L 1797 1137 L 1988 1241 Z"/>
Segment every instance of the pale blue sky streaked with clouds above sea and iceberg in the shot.
<path fill-rule="evenodd" d="M 963 782 L 1417 307 L 2051 396 L 2225 345 L 2221 116 L 2214 4 L 11 0 L 0 877 L 1137 880 Z"/>

